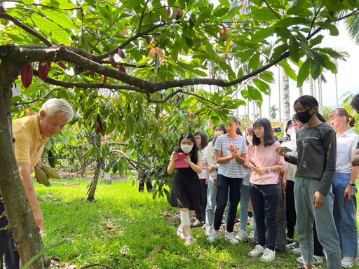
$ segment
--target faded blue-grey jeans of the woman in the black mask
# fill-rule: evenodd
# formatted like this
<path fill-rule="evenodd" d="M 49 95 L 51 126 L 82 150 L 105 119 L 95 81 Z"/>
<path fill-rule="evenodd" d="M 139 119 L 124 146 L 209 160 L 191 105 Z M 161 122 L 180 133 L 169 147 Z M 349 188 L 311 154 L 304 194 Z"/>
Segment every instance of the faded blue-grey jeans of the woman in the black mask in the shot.
<path fill-rule="evenodd" d="M 294 199 L 295 211 L 298 216 L 296 226 L 303 263 L 306 265 L 313 265 L 314 263 L 313 223 L 315 220 L 318 239 L 327 256 L 327 268 L 340 269 L 340 243 L 332 213 L 334 195 L 330 190 L 325 196 L 324 205 L 320 208 L 313 208 L 313 196 L 319 185 L 319 179 L 295 177 Z"/>

